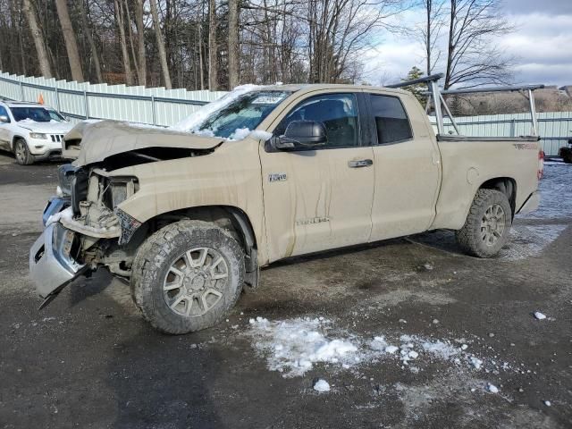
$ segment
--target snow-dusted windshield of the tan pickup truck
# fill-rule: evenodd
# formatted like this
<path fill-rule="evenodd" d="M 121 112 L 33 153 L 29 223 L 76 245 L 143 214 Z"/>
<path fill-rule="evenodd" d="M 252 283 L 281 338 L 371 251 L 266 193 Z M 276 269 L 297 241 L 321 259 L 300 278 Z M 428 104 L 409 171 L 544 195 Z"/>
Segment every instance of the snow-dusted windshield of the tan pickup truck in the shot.
<path fill-rule="evenodd" d="M 238 139 L 238 135 L 245 130 L 255 130 L 288 96 L 289 91 L 248 92 L 209 114 L 193 131 L 207 136 Z"/>

